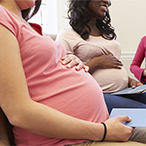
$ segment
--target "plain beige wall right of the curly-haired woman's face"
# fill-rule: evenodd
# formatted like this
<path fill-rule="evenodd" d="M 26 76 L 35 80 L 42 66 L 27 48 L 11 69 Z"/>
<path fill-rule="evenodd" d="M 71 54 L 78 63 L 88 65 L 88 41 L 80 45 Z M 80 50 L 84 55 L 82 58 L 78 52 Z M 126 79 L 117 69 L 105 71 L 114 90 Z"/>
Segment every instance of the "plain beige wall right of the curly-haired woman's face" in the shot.
<path fill-rule="evenodd" d="M 135 52 L 146 35 L 146 0 L 111 0 L 112 25 L 122 45 L 122 52 Z"/>

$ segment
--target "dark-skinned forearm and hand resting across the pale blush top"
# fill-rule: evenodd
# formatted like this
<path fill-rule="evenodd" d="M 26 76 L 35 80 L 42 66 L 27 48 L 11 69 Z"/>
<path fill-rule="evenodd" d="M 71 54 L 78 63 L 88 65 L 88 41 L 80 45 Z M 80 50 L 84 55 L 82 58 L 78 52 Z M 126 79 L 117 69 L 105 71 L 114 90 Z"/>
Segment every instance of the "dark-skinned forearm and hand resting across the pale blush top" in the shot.
<path fill-rule="evenodd" d="M 121 69 L 121 66 L 123 66 L 122 62 L 112 54 L 94 57 L 89 62 L 87 62 L 86 65 L 89 67 L 90 74 L 92 74 L 96 69 L 106 68 Z"/>

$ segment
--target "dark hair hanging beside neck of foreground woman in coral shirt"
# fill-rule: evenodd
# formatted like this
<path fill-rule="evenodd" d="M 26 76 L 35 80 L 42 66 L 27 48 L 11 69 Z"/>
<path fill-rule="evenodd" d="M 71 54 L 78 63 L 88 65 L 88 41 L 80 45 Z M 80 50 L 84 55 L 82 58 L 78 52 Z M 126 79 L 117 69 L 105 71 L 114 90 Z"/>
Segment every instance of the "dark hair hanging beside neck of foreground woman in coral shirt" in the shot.
<path fill-rule="evenodd" d="M 31 17 L 33 17 L 39 10 L 40 5 L 41 5 L 42 0 L 36 0 L 35 1 L 35 6 L 33 8 L 28 8 L 26 10 L 22 10 L 22 17 L 27 21 L 29 20 Z M 33 10 L 31 12 L 31 10 Z"/>

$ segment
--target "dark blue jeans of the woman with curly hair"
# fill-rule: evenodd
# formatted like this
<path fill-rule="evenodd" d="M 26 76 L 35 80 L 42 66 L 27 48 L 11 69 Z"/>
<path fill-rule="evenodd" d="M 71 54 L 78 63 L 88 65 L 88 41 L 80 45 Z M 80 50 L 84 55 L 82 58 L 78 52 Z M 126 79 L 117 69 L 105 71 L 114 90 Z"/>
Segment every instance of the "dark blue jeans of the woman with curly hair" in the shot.
<path fill-rule="evenodd" d="M 123 97 L 104 93 L 104 99 L 109 113 L 112 108 L 146 108 L 146 93 Z"/>

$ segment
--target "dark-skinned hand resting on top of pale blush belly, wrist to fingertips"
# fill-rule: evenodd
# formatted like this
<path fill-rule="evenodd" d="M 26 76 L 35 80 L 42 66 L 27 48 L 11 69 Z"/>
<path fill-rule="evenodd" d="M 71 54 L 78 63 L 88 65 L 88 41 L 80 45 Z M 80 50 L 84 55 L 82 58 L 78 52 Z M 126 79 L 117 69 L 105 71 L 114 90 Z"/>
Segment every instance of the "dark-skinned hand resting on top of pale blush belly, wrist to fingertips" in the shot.
<path fill-rule="evenodd" d="M 98 66 L 97 68 L 106 69 L 106 68 L 117 68 L 121 69 L 123 66 L 122 62 L 118 60 L 113 54 L 101 55 L 97 57 Z"/>

